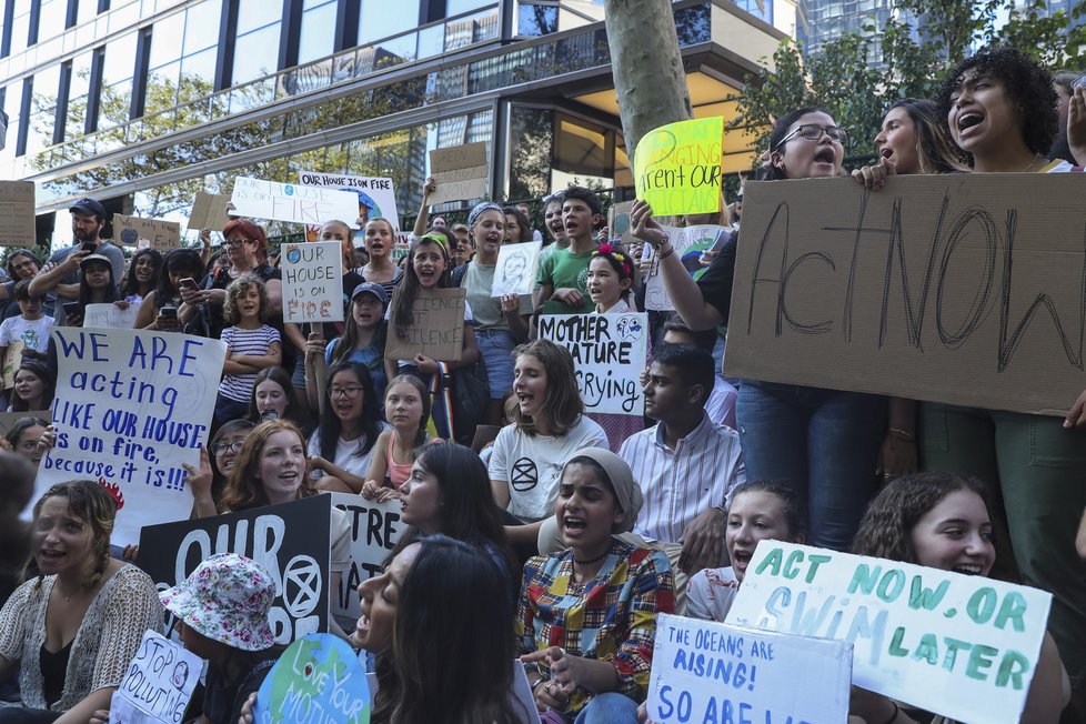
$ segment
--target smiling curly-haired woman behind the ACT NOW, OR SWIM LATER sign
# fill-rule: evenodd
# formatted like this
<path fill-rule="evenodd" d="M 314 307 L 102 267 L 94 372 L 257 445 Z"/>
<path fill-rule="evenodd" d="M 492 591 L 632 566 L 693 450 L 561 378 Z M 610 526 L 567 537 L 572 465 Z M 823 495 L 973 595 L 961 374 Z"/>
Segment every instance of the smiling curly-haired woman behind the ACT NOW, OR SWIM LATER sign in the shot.
<path fill-rule="evenodd" d="M 884 487 L 859 523 L 853 553 L 926 565 L 966 575 L 1002 577 L 993 543 L 988 489 L 979 480 L 951 473 L 906 475 Z M 1055 724 L 1069 685 L 1059 654 L 1046 634 L 1022 721 Z M 851 714 L 867 722 L 951 724 L 913 712 L 885 696 L 853 687 Z"/>

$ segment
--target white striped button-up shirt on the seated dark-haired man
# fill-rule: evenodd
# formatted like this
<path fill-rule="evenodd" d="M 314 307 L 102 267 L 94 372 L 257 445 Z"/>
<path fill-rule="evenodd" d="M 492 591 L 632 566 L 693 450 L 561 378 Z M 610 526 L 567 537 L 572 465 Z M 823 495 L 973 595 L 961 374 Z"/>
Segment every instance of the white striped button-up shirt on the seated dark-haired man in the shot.
<path fill-rule="evenodd" d="M 650 541 L 678 543 L 695 517 L 726 505 L 732 489 L 746 482 L 740 435 L 702 413 L 702 422 L 672 450 L 664 423 L 622 443 L 619 456 L 641 483 L 645 502 L 633 532 Z"/>

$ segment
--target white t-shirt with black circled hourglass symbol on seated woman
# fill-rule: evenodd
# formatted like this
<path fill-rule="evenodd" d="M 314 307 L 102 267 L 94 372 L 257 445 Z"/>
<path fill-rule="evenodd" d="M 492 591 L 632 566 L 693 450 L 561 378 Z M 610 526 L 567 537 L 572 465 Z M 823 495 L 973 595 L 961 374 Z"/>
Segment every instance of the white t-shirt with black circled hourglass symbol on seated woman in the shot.
<path fill-rule="evenodd" d="M 525 522 L 540 521 L 554 514 L 562 465 L 585 448 L 611 445 L 603 428 L 584 415 L 561 438 L 526 435 L 506 425 L 494 441 L 490 477 L 509 483 L 510 513 Z"/>

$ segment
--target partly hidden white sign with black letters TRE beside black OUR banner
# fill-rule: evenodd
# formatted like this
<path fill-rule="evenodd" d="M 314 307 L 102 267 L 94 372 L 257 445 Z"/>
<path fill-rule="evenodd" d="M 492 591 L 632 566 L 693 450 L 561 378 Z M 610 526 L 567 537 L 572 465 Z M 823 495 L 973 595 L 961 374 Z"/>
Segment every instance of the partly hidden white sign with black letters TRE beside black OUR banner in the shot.
<path fill-rule="evenodd" d="M 406 529 L 400 522 L 400 501 L 378 503 L 353 493 L 331 493 L 332 505 L 346 513 L 351 522 L 351 570 L 340 579 L 332 600 L 332 615 L 351 631 L 362 611 L 359 584 L 380 575 L 389 552 Z"/>

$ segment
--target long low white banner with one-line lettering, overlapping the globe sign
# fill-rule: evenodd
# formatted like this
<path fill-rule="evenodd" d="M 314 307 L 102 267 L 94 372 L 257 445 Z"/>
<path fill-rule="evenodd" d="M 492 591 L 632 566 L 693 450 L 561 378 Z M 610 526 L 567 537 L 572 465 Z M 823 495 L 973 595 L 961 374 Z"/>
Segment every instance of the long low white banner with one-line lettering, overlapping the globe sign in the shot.
<path fill-rule="evenodd" d="M 230 201 L 239 217 L 294 223 L 322 224 L 336 220 L 352 223 L 359 212 L 358 195 L 350 191 L 249 177 L 234 180 Z"/>

